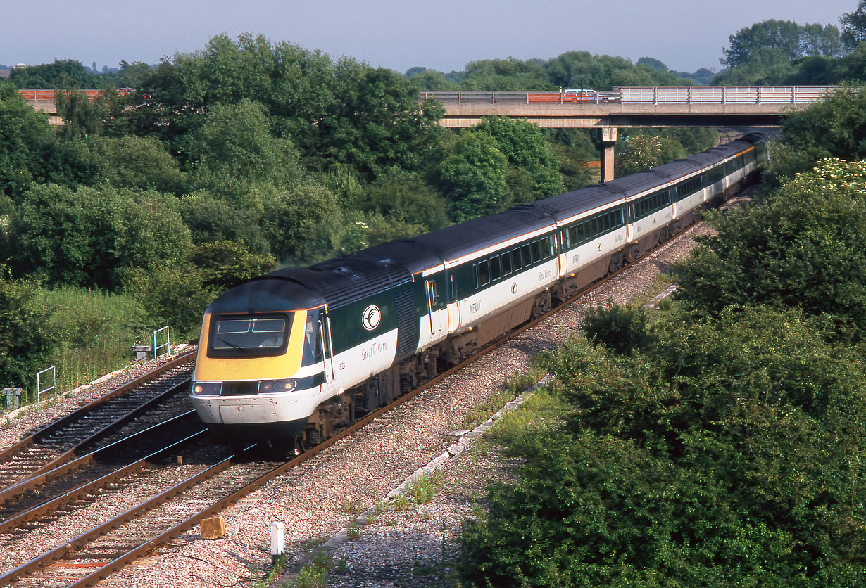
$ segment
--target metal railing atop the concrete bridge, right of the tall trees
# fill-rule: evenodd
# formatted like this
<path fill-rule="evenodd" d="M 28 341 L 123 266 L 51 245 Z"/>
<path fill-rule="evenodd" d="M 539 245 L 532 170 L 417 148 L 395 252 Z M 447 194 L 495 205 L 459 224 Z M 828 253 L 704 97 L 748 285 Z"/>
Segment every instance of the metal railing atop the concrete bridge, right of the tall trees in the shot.
<path fill-rule="evenodd" d="M 418 102 L 443 104 L 799 104 L 815 102 L 843 86 L 614 86 L 611 93 L 422 92 Z M 856 88 L 859 89 L 859 88 Z"/>

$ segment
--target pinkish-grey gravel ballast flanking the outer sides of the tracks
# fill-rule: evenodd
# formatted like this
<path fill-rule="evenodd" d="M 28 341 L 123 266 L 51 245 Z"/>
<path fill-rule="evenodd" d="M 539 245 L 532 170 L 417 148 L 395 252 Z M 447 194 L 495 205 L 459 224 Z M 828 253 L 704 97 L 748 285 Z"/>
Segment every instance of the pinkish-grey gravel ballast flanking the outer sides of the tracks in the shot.
<path fill-rule="evenodd" d="M 507 376 L 527 370 L 533 355 L 565 342 L 585 310 L 609 299 L 626 303 L 645 295 L 667 265 L 688 256 L 694 245 L 688 235 L 707 232 L 702 224 L 690 227 L 686 238 L 658 248 L 544 323 L 266 484 L 223 512 L 223 539 L 202 540 L 196 528 L 99 585 L 268 585 L 264 576 L 271 564 L 272 521 L 285 524 L 290 568 L 307 561 L 331 540 L 328 556 L 335 565 L 328 573 L 329 587 L 455 585 L 453 578 L 443 577 L 443 571 L 448 572 L 453 560 L 461 521 L 477 508 L 489 478 L 507 476 L 507 460 L 487 444 L 476 444 L 443 460 L 441 487 L 428 504 L 376 514 L 377 502 L 381 505 L 407 476 L 446 453 L 457 440 L 449 433 L 462 428 L 469 409 L 503 389 Z M 0 446 L 9 446 L 100 390 L 107 392 L 108 386 L 117 384 L 102 382 L 49 409 L 23 412 L 0 429 Z M 345 533 L 356 514 L 367 509 L 372 509 L 372 516 L 359 527 L 360 536 L 339 540 L 340 531 Z M 277 585 L 290 582 L 291 578 L 282 578 Z"/>

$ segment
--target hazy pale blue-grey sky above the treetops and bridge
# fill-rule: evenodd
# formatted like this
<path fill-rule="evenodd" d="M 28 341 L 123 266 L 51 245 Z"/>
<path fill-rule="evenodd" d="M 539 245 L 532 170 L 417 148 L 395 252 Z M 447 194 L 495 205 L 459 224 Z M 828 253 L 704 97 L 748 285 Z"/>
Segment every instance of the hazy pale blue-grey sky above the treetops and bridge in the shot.
<path fill-rule="evenodd" d="M 721 69 L 728 36 L 771 18 L 834 24 L 857 0 L 0 0 L 0 64 L 156 64 L 214 35 L 349 56 L 405 72 L 566 51 Z"/>

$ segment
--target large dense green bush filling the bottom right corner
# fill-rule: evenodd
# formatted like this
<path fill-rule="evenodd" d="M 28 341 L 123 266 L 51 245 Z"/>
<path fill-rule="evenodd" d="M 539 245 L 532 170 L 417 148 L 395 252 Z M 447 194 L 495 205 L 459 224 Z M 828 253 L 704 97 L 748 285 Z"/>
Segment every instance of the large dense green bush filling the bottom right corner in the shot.
<path fill-rule="evenodd" d="M 664 323 L 649 355 L 581 339 L 553 352 L 547 367 L 578 410 L 519 445 L 518 480 L 495 483 L 462 535 L 462 577 L 856 584 L 866 366 L 822 333 L 754 310 Z"/>

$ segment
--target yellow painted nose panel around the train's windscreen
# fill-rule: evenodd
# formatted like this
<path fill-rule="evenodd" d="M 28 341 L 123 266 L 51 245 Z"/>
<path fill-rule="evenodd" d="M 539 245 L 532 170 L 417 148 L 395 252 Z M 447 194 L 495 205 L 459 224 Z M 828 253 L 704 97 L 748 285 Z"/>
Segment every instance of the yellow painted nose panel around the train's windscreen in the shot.
<path fill-rule="evenodd" d="M 301 367 L 307 312 L 298 310 L 293 314 L 286 355 L 273 357 L 208 357 L 210 314 L 205 314 L 196 356 L 196 380 L 273 380 L 292 377 Z"/>

